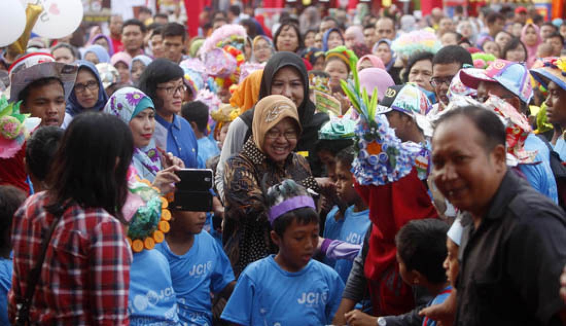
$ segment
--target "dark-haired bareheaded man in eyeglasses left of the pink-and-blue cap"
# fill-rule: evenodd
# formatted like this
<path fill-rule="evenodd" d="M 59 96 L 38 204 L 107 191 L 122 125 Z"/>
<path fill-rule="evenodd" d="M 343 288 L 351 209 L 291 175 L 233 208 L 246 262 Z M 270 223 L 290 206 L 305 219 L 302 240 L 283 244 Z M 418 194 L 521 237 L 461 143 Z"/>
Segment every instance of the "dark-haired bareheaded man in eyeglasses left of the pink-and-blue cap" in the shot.
<path fill-rule="evenodd" d="M 458 45 L 449 45 L 440 49 L 432 59 L 432 78 L 430 84 L 434 87 L 438 104 L 434 105 L 431 114 L 443 111 L 448 105 L 448 86 L 454 75 L 460 71 L 464 64 L 473 65 L 471 54 Z"/>

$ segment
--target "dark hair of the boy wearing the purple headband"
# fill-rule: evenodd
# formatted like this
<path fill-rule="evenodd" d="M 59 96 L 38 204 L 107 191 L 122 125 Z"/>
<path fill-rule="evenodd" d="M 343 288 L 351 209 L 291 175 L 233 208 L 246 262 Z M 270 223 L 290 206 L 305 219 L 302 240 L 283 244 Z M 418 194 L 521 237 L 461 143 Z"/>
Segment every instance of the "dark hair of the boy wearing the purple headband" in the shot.
<path fill-rule="evenodd" d="M 269 187 L 267 195 L 265 196 L 265 203 L 268 208 L 271 208 L 284 200 L 297 196 L 308 196 L 307 190 L 297 185 L 293 179 L 285 179 L 281 183 Z M 291 225 L 293 221 L 297 221 L 297 224 L 301 225 L 311 223 L 318 224 L 319 216 L 315 209 L 311 207 L 296 208 L 277 217 L 275 221 L 273 221 L 271 228 L 277 235 L 282 237 L 285 230 L 289 228 L 289 225 Z"/>

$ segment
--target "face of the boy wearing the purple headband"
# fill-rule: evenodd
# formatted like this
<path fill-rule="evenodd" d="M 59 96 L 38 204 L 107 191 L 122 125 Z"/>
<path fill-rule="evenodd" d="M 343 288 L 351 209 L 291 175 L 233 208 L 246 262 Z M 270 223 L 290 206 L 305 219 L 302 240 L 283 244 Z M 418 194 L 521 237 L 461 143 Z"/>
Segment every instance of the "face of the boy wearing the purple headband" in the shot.
<path fill-rule="evenodd" d="M 289 271 L 300 271 L 311 260 L 319 241 L 318 223 L 298 224 L 293 220 L 291 225 L 278 237 L 272 231 L 272 238 L 279 247 L 278 255 L 288 266 Z"/>

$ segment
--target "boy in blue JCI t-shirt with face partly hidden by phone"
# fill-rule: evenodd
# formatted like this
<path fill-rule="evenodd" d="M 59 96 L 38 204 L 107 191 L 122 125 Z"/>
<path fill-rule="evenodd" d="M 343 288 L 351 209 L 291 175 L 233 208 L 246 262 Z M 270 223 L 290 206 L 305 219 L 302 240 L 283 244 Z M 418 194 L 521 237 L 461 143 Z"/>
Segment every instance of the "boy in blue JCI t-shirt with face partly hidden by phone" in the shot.
<path fill-rule="evenodd" d="M 181 324 L 212 325 L 211 292 L 228 299 L 234 272 L 218 242 L 203 232 L 204 212 L 171 210 L 171 230 L 156 246 L 169 261 Z"/>

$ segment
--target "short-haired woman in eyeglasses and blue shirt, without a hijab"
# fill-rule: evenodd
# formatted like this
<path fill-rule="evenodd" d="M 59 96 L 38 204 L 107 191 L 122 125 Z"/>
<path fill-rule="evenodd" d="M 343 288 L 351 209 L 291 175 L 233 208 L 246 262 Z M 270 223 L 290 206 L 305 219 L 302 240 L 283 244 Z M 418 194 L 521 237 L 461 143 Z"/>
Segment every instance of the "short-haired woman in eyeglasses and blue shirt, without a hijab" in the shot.
<path fill-rule="evenodd" d="M 196 168 L 197 145 L 191 125 L 179 114 L 185 96 L 183 68 L 168 59 L 156 59 L 140 76 L 139 89 L 151 97 L 157 115 L 154 138 L 157 147 Z"/>

